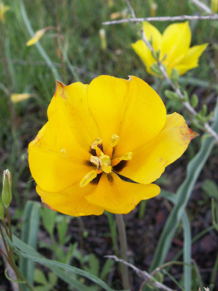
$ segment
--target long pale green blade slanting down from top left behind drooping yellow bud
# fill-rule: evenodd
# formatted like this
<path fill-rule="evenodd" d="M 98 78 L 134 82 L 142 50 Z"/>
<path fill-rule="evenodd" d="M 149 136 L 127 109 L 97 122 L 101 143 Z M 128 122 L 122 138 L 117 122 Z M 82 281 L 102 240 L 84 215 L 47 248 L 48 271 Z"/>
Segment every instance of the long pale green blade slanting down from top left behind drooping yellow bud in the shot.
<path fill-rule="evenodd" d="M 21 0 L 19 1 L 19 3 L 20 3 L 20 13 L 23 17 L 24 24 L 25 24 L 26 29 L 28 30 L 28 32 L 32 38 L 35 33 L 33 31 L 33 28 L 31 26 L 31 23 L 30 23 L 29 18 L 27 16 L 26 9 L 24 7 L 24 3 Z M 45 52 L 43 47 L 40 45 L 39 42 L 37 42 L 35 44 L 35 46 L 37 47 L 37 49 L 38 49 L 40 55 L 42 56 L 42 58 L 44 59 L 44 61 L 47 63 L 48 67 L 51 69 L 51 72 L 52 72 L 53 76 L 55 77 L 55 79 L 61 81 L 61 77 L 60 77 L 58 71 L 56 70 L 55 66 L 53 65 L 51 59 L 49 58 L 49 56 L 47 55 L 47 53 Z"/>

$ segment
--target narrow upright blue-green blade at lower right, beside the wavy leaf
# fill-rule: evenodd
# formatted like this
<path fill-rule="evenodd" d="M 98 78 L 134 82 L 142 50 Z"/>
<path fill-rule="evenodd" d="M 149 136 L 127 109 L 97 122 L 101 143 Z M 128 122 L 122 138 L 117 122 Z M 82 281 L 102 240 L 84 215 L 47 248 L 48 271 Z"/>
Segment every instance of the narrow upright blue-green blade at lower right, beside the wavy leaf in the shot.
<path fill-rule="evenodd" d="M 183 245 L 183 262 L 186 264 L 191 264 L 191 249 L 192 249 L 192 238 L 190 223 L 186 212 L 182 215 L 183 232 L 184 232 L 184 245 Z M 192 269 L 190 266 L 184 265 L 184 286 L 185 291 L 191 290 L 192 283 Z"/>

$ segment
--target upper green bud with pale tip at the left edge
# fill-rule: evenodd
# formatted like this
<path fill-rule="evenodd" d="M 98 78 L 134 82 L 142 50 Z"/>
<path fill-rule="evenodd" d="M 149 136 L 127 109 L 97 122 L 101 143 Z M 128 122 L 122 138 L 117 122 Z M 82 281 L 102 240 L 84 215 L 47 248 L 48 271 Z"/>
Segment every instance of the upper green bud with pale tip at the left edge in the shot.
<path fill-rule="evenodd" d="M 12 184 L 12 174 L 8 169 L 4 170 L 1 199 L 6 209 L 8 208 L 12 200 L 11 184 Z"/>

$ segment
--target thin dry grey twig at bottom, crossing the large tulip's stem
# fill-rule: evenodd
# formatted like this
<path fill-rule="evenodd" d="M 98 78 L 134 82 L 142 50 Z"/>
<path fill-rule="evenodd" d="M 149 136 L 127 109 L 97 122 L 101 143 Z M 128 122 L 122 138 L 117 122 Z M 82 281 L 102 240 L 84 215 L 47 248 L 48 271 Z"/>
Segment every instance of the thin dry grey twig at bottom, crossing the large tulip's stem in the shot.
<path fill-rule="evenodd" d="M 173 290 L 173 289 L 167 287 L 166 285 L 164 285 L 164 284 L 158 282 L 154 277 L 152 277 L 151 275 L 149 275 L 148 272 L 146 272 L 146 271 L 142 271 L 142 270 L 138 269 L 138 268 L 135 267 L 133 264 L 128 263 L 128 262 L 126 262 L 125 260 L 122 260 L 122 259 L 120 259 L 120 258 L 117 258 L 117 256 L 115 256 L 115 255 L 105 255 L 104 257 L 105 257 L 105 258 L 113 259 L 113 260 L 115 260 L 116 262 L 121 262 L 121 263 L 123 263 L 124 265 L 130 267 L 131 269 L 133 269 L 133 270 L 136 272 L 136 274 L 137 274 L 140 278 L 142 278 L 143 280 L 145 280 L 145 281 L 148 282 L 149 284 L 151 284 L 151 285 L 153 285 L 153 286 L 155 286 L 155 287 L 157 287 L 157 288 L 159 288 L 159 289 L 161 289 L 161 290 L 166 290 L 166 291 L 175 291 L 175 290 Z"/>

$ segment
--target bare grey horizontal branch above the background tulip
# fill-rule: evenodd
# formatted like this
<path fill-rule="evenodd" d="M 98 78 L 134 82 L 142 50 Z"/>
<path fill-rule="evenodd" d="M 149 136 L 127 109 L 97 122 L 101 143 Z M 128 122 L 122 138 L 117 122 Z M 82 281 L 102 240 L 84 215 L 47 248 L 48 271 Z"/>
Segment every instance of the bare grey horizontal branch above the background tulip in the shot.
<path fill-rule="evenodd" d="M 159 16 L 159 17 L 145 17 L 145 18 L 125 18 L 119 20 L 111 20 L 102 22 L 103 25 L 120 24 L 124 22 L 143 22 L 143 21 L 178 21 L 178 20 L 212 20 L 218 19 L 218 14 L 213 15 L 180 15 L 180 16 Z"/>

